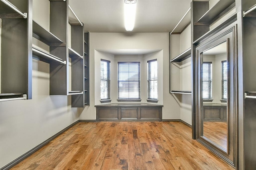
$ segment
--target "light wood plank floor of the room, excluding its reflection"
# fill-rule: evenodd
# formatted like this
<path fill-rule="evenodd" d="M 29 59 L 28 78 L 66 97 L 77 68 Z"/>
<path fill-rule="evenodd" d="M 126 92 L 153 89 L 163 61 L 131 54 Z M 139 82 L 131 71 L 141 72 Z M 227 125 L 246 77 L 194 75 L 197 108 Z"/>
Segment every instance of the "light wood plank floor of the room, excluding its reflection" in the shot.
<path fill-rule="evenodd" d="M 78 123 L 13 170 L 234 170 L 180 122 Z"/>

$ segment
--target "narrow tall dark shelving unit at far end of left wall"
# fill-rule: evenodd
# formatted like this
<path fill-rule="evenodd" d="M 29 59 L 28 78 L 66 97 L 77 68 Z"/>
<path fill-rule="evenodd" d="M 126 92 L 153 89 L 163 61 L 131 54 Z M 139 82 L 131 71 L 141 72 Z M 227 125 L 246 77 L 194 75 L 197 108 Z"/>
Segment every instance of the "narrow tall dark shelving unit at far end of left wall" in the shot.
<path fill-rule="evenodd" d="M 89 43 L 90 33 L 84 33 L 84 105 L 90 105 L 90 77 L 89 77 Z"/>

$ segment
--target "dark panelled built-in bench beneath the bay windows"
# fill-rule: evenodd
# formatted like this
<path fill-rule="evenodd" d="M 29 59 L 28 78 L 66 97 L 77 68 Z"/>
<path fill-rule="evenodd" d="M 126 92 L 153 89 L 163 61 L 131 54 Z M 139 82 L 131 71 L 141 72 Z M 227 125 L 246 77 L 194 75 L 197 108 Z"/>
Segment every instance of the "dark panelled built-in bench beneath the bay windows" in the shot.
<path fill-rule="evenodd" d="M 163 105 L 111 103 L 95 107 L 96 121 L 162 121 Z"/>

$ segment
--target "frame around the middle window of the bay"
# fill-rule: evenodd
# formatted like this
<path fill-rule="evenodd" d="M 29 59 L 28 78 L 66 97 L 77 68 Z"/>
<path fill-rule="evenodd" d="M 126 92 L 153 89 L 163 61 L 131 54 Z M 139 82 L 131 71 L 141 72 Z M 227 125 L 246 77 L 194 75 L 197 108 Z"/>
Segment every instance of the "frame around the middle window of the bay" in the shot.
<path fill-rule="evenodd" d="M 124 80 L 120 80 L 120 78 L 119 78 L 119 77 L 120 77 L 120 75 L 119 75 L 119 73 L 120 73 L 120 70 L 119 70 L 119 69 L 120 69 L 120 66 L 119 66 L 119 64 L 138 64 L 138 66 L 139 66 L 139 67 L 138 67 L 138 78 L 139 78 L 139 79 L 138 79 L 138 81 L 137 81 L 137 82 L 138 82 L 138 89 L 139 89 L 139 91 L 138 91 L 138 98 L 132 98 L 132 97 L 131 97 L 131 98 L 123 98 L 123 97 L 120 97 L 120 83 L 121 83 L 121 82 L 128 82 L 128 83 L 130 83 L 130 82 L 136 82 L 136 81 L 132 81 L 132 80 L 124 81 Z M 118 101 L 118 102 L 120 102 L 120 101 L 125 101 L 125 102 L 141 101 L 141 95 L 140 95 L 140 92 L 141 92 L 141 90 L 140 90 L 140 82 L 141 82 L 141 81 L 140 81 L 140 78 L 141 78 L 141 77 L 140 77 L 140 72 L 141 72 L 141 69 L 140 69 L 140 61 L 134 61 L 134 62 L 119 61 L 117 67 L 118 67 L 118 71 L 117 71 L 117 75 L 118 75 L 118 76 L 117 76 L 117 77 L 118 77 L 118 78 L 117 78 L 117 83 L 118 83 L 118 86 L 117 86 L 117 87 L 118 87 L 118 95 L 117 95 L 117 96 L 118 96 L 118 99 L 117 99 L 117 101 Z M 129 93 L 129 92 L 128 92 L 128 93 Z"/>

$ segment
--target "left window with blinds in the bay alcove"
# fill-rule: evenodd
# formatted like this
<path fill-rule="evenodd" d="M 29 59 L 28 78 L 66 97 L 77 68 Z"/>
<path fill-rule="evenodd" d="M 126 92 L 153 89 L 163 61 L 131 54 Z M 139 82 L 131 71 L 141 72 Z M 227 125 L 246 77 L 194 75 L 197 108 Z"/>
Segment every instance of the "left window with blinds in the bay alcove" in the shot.
<path fill-rule="evenodd" d="M 110 61 L 100 60 L 100 99 L 110 99 Z"/>

